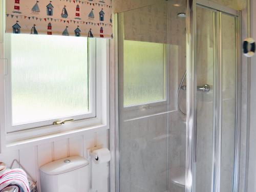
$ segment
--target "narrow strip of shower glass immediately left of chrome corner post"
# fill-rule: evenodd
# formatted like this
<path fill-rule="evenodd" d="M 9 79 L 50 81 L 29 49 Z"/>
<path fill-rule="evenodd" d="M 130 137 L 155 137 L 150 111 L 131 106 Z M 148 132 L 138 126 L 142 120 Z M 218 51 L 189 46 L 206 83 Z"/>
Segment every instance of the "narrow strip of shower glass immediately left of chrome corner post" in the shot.
<path fill-rule="evenodd" d="M 185 191 L 186 170 L 186 1 L 168 1 L 168 190 Z M 179 94 L 178 94 L 179 92 Z M 177 105 L 178 103 L 178 105 Z"/>

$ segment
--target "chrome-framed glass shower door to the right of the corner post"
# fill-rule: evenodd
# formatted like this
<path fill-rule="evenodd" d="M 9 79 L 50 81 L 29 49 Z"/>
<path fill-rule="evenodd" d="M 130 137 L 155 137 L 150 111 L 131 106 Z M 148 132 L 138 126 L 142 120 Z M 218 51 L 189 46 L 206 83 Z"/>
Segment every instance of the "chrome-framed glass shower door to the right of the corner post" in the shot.
<path fill-rule="evenodd" d="M 204 2 L 196 6 L 195 124 L 187 127 L 195 134 L 191 178 L 197 192 L 231 192 L 239 175 L 240 13 Z M 206 84 L 210 89 L 200 90 Z"/>

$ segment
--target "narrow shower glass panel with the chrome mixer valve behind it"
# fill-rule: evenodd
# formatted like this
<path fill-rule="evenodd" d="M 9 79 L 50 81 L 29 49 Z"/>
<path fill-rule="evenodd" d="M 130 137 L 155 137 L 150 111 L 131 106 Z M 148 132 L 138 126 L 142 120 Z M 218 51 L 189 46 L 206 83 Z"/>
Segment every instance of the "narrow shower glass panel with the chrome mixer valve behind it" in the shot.
<path fill-rule="evenodd" d="M 197 86 L 209 84 L 209 92 L 197 92 L 196 191 L 211 191 L 212 134 L 214 117 L 214 11 L 197 7 Z"/>

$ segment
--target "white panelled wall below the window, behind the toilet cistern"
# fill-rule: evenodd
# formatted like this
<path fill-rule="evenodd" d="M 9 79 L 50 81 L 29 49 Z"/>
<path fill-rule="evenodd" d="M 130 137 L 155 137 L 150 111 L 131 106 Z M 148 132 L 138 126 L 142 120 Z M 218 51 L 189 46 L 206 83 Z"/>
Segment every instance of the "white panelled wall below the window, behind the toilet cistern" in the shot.
<path fill-rule="evenodd" d="M 94 146 L 103 145 L 109 147 L 109 131 L 90 131 L 87 134 L 70 137 L 68 139 L 56 140 L 45 144 L 20 148 L 19 150 L 8 151 L 0 154 L 0 161 L 5 162 L 8 166 L 11 165 L 14 159 L 17 159 L 27 172 L 38 182 L 40 188 L 39 167 L 51 161 L 80 155 L 87 157 L 87 150 Z M 14 164 L 15 167 L 18 165 Z M 105 163 L 102 169 L 103 186 L 102 190 L 97 192 L 109 191 L 109 163 Z M 40 189 L 39 189 L 40 191 Z M 93 192 L 93 190 L 91 190 Z"/>

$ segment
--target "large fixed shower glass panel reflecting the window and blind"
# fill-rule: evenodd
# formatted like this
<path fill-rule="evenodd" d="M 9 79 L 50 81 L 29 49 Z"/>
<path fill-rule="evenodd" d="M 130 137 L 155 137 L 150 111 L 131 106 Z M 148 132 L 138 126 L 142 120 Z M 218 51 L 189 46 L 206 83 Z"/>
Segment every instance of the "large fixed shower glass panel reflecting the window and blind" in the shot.
<path fill-rule="evenodd" d="M 185 5 L 157 1 L 118 14 L 121 192 L 185 191 L 186 118 L 176 103 L 186 71 L 186 19 L 178 16 Z M 185 90 L 178 101 L 185 111 Z"/>

